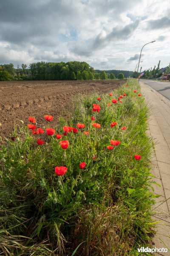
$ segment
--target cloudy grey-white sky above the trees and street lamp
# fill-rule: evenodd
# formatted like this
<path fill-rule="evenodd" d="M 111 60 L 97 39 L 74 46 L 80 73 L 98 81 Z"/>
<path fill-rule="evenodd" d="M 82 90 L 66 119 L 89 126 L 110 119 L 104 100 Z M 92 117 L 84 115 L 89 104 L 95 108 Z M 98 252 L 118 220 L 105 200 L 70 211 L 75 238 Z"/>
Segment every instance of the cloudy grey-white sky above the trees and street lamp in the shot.
<path fill-rule="evenodd" d="M 170 63 L 169 0 L 0 0 L 0 64 L 86 61 L 134 71 Z"/>

